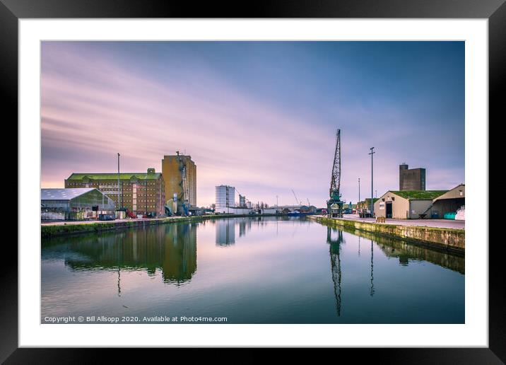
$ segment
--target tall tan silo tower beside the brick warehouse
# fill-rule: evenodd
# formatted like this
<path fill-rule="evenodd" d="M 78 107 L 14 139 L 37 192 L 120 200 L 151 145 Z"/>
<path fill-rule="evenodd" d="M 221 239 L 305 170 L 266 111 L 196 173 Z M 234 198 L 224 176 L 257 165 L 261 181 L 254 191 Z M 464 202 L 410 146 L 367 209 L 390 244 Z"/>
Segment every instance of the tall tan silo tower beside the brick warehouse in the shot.
<path fill-rule="evenodd" d="M 176 195 L 177 209 L 185 201 L 196 207 L 196 165 L 192 156 L 183 155 L 180 151 L 173 156 L 163 156 L 162 175 L 166 199 L 174 199 Z"/>

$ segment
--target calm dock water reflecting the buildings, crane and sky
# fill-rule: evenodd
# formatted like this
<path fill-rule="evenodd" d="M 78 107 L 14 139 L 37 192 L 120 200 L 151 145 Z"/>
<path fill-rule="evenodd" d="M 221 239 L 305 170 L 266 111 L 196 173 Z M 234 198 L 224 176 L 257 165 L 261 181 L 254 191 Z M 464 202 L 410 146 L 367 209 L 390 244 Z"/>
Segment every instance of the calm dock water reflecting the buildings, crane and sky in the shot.
<path fill-rule="evenodd" d="M 464 257 L 305 219 L 165 224 L 44 240 L 41 321 L 464 323 L 464 280 Z"/>

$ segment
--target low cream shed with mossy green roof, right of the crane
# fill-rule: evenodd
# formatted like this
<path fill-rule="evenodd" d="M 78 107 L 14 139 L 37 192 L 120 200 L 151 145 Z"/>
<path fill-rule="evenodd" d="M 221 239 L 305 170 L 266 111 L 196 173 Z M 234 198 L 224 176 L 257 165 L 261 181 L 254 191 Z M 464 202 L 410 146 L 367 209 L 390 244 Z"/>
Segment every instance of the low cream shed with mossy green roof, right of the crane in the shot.
<path fill-rule="evenodd" d="M 389 190 L 374 204 L 375 216 L 420 219 L 433 216 L 433 200 L 448 190 Z M 437 216 L 439 217 L 439 216 Z"/>

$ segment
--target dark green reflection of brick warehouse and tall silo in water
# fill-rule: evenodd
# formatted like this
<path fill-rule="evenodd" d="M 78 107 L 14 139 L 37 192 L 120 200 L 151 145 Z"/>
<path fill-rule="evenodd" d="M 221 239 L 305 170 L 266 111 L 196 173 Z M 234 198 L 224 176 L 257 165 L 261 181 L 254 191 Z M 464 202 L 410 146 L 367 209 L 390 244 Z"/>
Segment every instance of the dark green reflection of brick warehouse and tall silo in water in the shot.
<path fill-rule="evenodd" d="M 65 265 L 73 270 L 161 270 L 163 282 L 182 284 L 196 272 L 196 224 L 165 224 L 122 233 L 101 233 L 69 243 Z"/>

